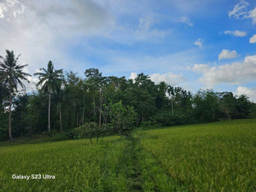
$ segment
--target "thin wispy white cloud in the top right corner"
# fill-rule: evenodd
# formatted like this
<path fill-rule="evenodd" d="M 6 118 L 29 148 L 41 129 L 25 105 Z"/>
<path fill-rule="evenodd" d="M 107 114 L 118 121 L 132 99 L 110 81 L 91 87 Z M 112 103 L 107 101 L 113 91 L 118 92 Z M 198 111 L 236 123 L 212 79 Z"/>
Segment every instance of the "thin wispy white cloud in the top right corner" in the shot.
<path fill-rule="evenodd" d="M 256 8 L 253 10 L 247 10 L 247 3 L 245 0 L 241 0 L 239 3 L 236 3 L 234 9 L 229 11 L 229 17 L 233 17 L 236 20 L 241 19 L 252 19 L 253 25 L 256 24 Z"/>

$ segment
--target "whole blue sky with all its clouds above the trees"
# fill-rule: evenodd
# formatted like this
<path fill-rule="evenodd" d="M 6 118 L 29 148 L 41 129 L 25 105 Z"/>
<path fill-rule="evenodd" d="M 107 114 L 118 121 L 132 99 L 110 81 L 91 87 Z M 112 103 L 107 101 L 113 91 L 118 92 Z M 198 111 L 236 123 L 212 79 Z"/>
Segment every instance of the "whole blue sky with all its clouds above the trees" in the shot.
<path fill-rule="evenodd" d="M 0 55 L 27 73 L 98 68 L 256 102 L 255 0 L 0 0 Z M 29 78 L 35 89 L 37 77 Z"/>

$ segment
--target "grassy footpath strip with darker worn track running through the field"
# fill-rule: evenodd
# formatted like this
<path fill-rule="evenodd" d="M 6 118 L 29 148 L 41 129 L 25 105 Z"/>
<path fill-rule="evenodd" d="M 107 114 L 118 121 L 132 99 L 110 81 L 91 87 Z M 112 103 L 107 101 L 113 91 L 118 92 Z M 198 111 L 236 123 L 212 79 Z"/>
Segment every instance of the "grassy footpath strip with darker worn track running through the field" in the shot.
<path fill-rule="evenodd" d="M 140 137 L 127 139 L 120 165 L 127 178 L 127 190 L 137 191 L 188 191 L 177 183 L 155 157 L 142 146 Z"/>

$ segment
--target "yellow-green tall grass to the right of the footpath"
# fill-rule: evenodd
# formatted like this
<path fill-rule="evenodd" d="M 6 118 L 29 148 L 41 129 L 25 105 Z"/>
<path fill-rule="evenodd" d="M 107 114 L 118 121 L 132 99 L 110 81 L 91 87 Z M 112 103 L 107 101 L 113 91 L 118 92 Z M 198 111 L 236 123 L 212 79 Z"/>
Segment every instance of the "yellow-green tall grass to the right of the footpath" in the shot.
<path fill-rule="evenodd" d="M 141 143 L 189 191 L 256 191 L 255 120 L 143 131 Z"/>

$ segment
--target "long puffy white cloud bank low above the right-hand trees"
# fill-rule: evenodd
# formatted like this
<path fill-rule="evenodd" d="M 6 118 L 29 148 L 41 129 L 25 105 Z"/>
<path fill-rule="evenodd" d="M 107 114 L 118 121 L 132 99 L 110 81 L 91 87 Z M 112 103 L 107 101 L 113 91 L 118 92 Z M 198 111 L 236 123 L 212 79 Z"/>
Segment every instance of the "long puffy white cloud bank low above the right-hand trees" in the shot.
<path fill-rule="evenodd" d="M 239 63 L 225 64 L 218 67 L 195 64 L 191 70 L 202 73 L 199 79 L 207 88 L 212 88 L 216 84 L 244 84 L 256 80 L 256 55 L 245 57 Z"/>

